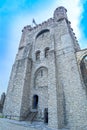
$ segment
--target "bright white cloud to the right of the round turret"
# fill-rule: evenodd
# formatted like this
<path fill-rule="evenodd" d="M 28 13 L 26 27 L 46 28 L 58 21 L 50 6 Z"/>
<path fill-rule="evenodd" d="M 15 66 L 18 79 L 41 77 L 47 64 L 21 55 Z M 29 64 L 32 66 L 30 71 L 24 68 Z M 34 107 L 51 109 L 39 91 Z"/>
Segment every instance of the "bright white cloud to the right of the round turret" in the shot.
<path fill-rule="evenodd" d="M 67 15 L 71 21 L 72 28 L 74 29 L 76 36 L 79 38 L 79 22 L 82 13 L 82 5 L 80 4 L 80 0 L 60 0 L 59 5 L 64 5 L 67 9 Z"/>

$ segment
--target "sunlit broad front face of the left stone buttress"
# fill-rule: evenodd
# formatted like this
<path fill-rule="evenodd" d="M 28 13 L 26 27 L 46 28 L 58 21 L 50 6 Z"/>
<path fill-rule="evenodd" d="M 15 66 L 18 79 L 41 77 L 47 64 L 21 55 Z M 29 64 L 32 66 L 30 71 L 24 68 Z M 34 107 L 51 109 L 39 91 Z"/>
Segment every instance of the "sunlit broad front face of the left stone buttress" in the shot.
<path fill-rule="evenodd" d="M 5 100 L 3 113 L 9 118 L 20 119 L 21 100 L 26 71 L 26 59 L 16 61 L 13 65 L 11 80 Z"/>

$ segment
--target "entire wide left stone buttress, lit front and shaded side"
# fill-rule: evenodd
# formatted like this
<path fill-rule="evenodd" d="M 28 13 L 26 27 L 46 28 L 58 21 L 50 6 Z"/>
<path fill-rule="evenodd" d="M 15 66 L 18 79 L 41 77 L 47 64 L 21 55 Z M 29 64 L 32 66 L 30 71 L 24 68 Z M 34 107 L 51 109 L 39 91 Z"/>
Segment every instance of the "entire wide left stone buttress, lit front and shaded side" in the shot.
<path fill-rule="evenodd" d="M 21 120 L 29 106 L 29 77 L 31 64 L 28 58 L 15 61 L 13 65 L 7 96 L 4 104 L 4 116 Z M 29 77 L 28 77 L 29 76 Z"/>

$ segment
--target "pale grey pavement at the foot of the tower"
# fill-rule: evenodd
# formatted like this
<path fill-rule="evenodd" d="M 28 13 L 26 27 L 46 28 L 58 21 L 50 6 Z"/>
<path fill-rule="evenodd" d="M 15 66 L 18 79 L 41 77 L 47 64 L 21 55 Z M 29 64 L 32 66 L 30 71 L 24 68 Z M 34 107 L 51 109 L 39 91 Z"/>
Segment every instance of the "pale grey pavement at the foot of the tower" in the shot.
<path fill-rule="evenodd" d="M 6 118 L 0 118 L 0 130 L 56 130 L 51 129 L 43 122 L 16 121 Z M 67 129 L 61 129 L 67 130 Z"/>

